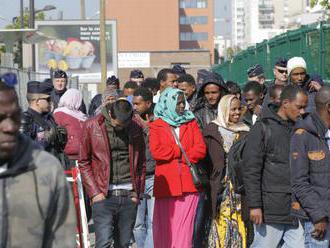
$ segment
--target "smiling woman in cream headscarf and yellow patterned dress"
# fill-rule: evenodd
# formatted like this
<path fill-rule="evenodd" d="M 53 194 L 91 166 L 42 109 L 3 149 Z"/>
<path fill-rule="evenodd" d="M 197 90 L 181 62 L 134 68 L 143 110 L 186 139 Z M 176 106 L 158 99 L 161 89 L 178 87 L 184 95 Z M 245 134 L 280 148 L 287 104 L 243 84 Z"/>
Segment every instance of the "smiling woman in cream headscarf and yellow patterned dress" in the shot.
<path fill-rule="evenodd" d="M 249 131 L 240 117 L 240 100 L 235 95 L 226 95 L 219 102 L 217 118 L 203 132 L 208 148 L 212 214 L 208 247 L 212 248 L 246 247 L 241 195 L 234 192 L 227 170 L 231 146 Z"/>

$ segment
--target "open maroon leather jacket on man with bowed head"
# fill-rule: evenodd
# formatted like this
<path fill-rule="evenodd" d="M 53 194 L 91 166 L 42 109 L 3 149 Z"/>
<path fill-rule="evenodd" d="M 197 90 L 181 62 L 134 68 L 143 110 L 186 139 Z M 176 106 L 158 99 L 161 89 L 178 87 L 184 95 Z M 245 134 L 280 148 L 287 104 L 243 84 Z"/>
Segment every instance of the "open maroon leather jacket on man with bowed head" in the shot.
<path fill-rule="evenodd" d="M 99 114 L 85 122 L 78 160 L 82 181 L 90 198 L 108 194 L 110 181 L 111 147 L 104 122 Z M 145 144 L 143 132 L 135 121 L 128 127 L 129 161 L 133 190 L 139 196 L 144 191 Z"/>

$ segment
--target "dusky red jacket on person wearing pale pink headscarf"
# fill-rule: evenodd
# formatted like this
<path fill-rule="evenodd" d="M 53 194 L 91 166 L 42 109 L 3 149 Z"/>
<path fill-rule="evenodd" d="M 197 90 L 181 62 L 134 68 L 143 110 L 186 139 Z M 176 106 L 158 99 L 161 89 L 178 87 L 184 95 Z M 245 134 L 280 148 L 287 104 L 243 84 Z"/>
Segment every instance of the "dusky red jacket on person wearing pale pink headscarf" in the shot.
<path fill-rule="evenodd" d="M 65 127 L 68 132 L 68 141 L 65 145 L 64 153 L 69 159 L 78 159 L 83 121 L 63 112 L 56 112 L 54 119 L 58 125 Z"/>

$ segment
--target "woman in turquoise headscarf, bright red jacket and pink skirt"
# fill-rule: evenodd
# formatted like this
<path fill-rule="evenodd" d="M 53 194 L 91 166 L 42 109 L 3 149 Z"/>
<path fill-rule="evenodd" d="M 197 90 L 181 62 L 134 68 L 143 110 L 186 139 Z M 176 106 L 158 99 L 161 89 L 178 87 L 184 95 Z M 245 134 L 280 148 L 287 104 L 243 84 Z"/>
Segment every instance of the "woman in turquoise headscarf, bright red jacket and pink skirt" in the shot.
<path fill-rule="evenodd" d="M 193 164 L 205 157 L 206 146 L 185 103 L 181 90 L 167 88 L 155 106 L 158 119 L 150 124 L 150 151 L 156 161 L 153 235 L 157 248 L 192 247 L 199 193 L 175 135 Z"/>

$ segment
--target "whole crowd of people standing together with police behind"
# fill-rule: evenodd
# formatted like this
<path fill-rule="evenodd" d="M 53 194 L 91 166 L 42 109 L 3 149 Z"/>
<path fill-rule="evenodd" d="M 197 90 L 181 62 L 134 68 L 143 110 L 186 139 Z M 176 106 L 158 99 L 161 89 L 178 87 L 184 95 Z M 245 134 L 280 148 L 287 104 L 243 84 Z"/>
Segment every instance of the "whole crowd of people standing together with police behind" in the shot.
<path fill-rule="evenodd" d="M 330 247 L 330 87 L 301 57 L 273 72 L 133 70 L 87 110 L 55 71 L 22 115 L 2 76 L 0 246 L 74 247 L 78 166 L 96 248 Z"/>

